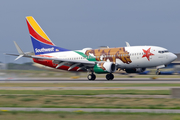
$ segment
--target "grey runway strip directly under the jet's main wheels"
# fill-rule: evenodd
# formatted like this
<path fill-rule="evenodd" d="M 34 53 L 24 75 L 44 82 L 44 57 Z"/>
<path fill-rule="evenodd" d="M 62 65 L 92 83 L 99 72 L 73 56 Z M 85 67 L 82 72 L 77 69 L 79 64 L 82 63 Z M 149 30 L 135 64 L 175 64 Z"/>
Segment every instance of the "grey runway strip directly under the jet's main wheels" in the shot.
<path fill-rule="evenodd" d="M 108 81 L 105 78 L 97 78 L 89 81 L 87 78 L 0 78 L 0 83 L 180 83 L 180 78 L 115 78 Z"/>

